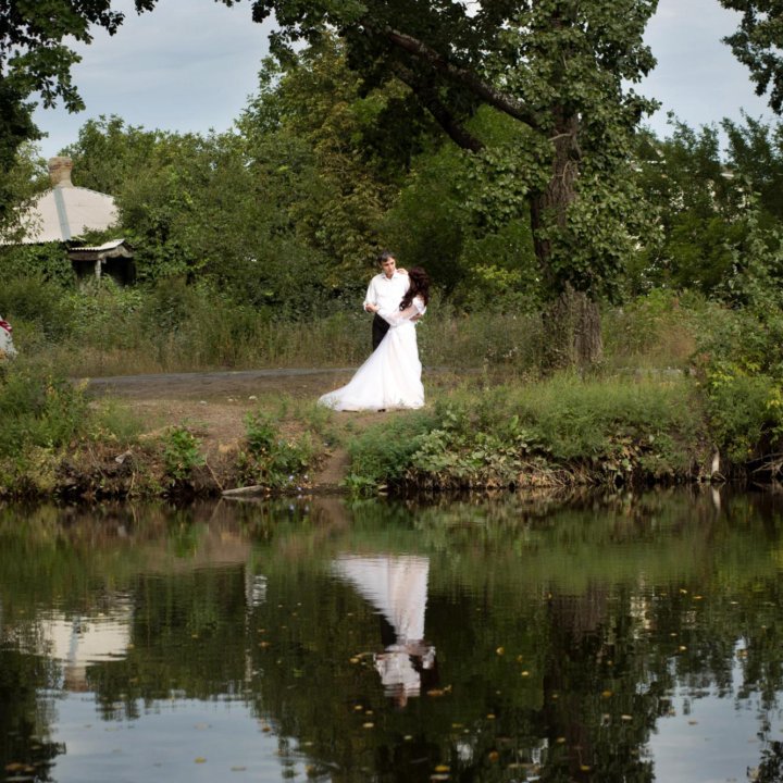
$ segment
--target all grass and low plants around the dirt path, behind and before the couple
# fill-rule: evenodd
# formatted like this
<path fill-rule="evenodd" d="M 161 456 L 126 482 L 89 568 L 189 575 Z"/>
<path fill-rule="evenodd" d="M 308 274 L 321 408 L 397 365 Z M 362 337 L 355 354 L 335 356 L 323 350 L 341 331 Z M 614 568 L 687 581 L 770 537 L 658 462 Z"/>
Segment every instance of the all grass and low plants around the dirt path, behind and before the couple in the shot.
<path fill-rule="evenodd" d="M 111 294 L 112 306 L 124 297 L 133 293 Z M 22 358 L 0 382 L 5 496 L 307 490 L 340 450 L 353 492 L 649 485 L 709 478 L 716 453 L 725 477 L 759 467 L 774 477 L 766 456 L 783 449 L 783 340 L 773 314 L 646 297 L 605 313 L 605 361 L 580 377 L 542 375 L 546 335 L 535 316 L 433 308 L 419 331 L 422 358 L 450 371 L 425 370 L 423 411 L 362 419 L 316 409 L 314 395 L 295 405 L 270 396 L 249 411 L 236 444 L 210 451 L 192 422 L 150 427 L 120 401 L 90 401 L 65 371 L 197 370 L 219 360 L 356 365 L 366 320 L 345 311 L 311 322 L 227 311 L 223 319 L 215 307 L 209 323 L 206 311 L 186 310 L 176 326 L 151 333 L 111 312 L 85 319 L 80 347 L 73 335 L 49 338 L 42 324 L 21 320 Z"/>

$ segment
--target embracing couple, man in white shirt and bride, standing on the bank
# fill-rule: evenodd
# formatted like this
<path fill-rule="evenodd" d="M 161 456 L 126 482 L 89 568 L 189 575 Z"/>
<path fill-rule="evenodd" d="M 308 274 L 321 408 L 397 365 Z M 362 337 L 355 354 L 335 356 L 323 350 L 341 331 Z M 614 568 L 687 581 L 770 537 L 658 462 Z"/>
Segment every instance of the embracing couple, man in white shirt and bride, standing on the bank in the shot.
<path fill-rule="evenodd" d="M 374 313 L 373 352 L 346 386 L 321 397 L 319 405 L 347 411 L 424 405 L 415 323 L 430 301 L 430 278 L 421 266 L 398 270 L 388 251 L 378 264 L 364 299 L 364 310 Z"/>

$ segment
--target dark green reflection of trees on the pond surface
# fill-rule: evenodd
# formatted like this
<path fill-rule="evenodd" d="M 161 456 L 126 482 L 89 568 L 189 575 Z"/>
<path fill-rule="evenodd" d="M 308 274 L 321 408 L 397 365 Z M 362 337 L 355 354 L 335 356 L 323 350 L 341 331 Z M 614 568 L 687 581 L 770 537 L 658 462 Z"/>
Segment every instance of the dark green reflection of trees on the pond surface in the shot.
<path fill-rule="evenodd" d="M 694 698 L 708 688 L 760 694 L 762 732 L 778 705 L 780 500 L 726 496 L 720 513 L 709 494 L 683 505 L 667 493 L 527 515 L 513 502 L 415 515 L 402 506 L 391 522 L 377 504 L 352 517 L 339 502 L 261 509 L 181 510 L 169 522 L 156 511 L 122 525 L 104 515 L 104 531 L 75 521 L 58 530 L 41 517 L 30 536 L 0 511 L 0 587 L 16 601 L 7 643 L 21 649 L 18 609 L 66 597 L 72 612 L 105 610 L 111 583 L 133 596 L 133 646 L 89 668 L 104 717 L 138 716 L 172 688 L 203 699 L 231 693 L 272 725 L 287 769 L 307 758 L 335 781 L 365 780 L 363 769 L 424 781 L 438 763 L 463 780 L 517 769 L 546 781 L 648 781 L 645 747 L 675 683 Z M 126 549 L 128 538 L 139 547 Z M 400 643 L 400 621 L 381 609 L 378 633 L 378 606 L 335 583 L 330 563 L 339 551 L 417 546 L 428 561 L 426 637 L 437 645 L 440 695 L 422 682 L 420 697 L 397 710 L 373 654 Z M 151 572 L 140 571 L 142 551 Z M 219 552 L 232 562 L 210 564 Z M 57 672 L 8 660 L 0 731 L 18 733 L 3 731 L 1 747 L 9 761 L 32 759 L 47 721 L 35 693 Z M 23 683 L 18 693 L 5 671 Z M 36 710 L 40 725 L 24 725 Z M 761 780 L 774 780 L 780 757 L 768 743 Z"/>

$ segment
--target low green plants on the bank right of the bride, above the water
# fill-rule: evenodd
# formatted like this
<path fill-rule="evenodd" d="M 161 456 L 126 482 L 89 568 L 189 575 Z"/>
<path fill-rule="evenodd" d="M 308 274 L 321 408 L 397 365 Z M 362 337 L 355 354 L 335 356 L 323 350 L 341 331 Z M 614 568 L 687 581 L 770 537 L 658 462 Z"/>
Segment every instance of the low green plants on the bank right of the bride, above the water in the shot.
<path fill-rule="evenodd" d="M 351 444 L 350 481 L 490 488 L 676 481 L 705 443 L 700 405 L 684 380 L 566 375 L 464 390 L 438 399 L 432 412 L 372 427 Z"/>

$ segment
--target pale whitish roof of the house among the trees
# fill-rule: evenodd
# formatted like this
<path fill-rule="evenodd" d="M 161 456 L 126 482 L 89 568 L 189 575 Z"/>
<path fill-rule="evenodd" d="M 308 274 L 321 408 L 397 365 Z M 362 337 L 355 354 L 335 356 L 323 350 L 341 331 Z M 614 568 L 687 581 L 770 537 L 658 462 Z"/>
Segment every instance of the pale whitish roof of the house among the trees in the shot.
<path fill-rule="evenodd" d="M 39 196 L 23 217 L 23 245 L 66 241 L 85 231 L 103 231 L 117 220 L 114 199 L 89 188 L 60 184 Z"/>

